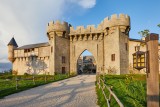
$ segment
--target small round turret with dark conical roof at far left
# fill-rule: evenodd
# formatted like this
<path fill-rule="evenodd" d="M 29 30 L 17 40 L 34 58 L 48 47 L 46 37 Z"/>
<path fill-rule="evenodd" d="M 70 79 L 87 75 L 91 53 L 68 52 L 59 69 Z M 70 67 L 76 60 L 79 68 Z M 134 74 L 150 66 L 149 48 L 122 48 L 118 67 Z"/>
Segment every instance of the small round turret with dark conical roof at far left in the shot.
<path fill-rule="evenodd" d="M 15 58 L 14 58 L 14 49 L 16 49 L 18 47 L 14 37 L 10 40 L 10 42 L 8 43 L 8 59 L 9 61 L 11 61 L 12 63 L 14 62 Z"/>

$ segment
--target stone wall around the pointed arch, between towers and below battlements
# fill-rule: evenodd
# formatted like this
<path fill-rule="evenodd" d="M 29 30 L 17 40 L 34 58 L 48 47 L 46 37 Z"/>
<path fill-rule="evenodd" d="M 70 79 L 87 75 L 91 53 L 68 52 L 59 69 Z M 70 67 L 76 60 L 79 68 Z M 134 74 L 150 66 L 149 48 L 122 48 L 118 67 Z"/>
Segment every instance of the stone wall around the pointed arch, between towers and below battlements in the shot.
<path fill-rule="evenodd" d="M 79 56 L 85 51 L 88 50 L 91 52 L 95 58 L 97 64 L 97 72 L 101 72 L 103 69 L 104 63 L 104 52 L 103 52 L 103 39 L 100 36 L 103 34 L 97 35 L 99 39 L 93 35 L 88 35 L 87 40 L 76 40 L 70 42 L 70 70 L 71 72 L 77 73 L 77 60 Z"/>

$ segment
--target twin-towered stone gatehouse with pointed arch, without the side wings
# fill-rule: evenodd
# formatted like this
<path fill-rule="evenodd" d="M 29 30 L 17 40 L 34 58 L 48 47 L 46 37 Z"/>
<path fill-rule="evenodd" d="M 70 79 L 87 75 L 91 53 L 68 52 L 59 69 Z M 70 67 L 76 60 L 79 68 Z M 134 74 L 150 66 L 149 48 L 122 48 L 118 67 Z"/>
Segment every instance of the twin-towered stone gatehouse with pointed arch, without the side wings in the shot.
<path fill-rule="evenodd" d="M 54 52 L 50 54 L 50 71 L 65 66 L 67 71 L 77 73 L 77 59 L 87 49 L 96 60 L 97 72 L 115 69 L 117 74 L 128 73 L 129 30 L 130 18 L 124 14 L 105 18 L 97 28 L 88 25 L 74 29 L 66 22 L 50 22 L 47 35 Z M 67 63 L 61 64 L 62 56 Z"/>

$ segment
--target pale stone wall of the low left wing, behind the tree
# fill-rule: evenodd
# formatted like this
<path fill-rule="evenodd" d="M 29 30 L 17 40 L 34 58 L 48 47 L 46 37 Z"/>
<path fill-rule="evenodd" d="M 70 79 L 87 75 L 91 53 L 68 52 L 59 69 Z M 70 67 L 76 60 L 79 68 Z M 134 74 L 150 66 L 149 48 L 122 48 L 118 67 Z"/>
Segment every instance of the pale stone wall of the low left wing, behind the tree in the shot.
<path fill-rule="evenodd" d="M 49 47 L 39 47 L 34 48 L 34 53 L 36 56 L 38 56 L 38 59 L 41 59 L 47 64 L 47 69 L 45 69 L 46 73 L 49 73 Z M 13 70 L 18 71 L 18 75 L 23 75 L 27 72 L 28 66 L 26 66 L 29 56 L 31 55 L 31 52 L 25 52 L 25 49 L 20 50 L 14 50 L 14 59 L 13 62 Z M 31 71 L 33 72 L 33 70 Z M 39 71 L 37 71 L 38 73 Z M 44 74 L 43 71 L 41 71 L 39 74 Z"/>

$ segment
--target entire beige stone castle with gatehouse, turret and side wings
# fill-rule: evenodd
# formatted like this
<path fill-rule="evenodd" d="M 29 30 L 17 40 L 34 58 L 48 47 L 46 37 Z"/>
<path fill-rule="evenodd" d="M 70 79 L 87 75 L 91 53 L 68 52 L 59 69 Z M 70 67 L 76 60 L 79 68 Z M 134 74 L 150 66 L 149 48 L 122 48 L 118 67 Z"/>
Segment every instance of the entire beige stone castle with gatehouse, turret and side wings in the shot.
<path fill-rule="evenodd" d="M 124 14 L 106 17 L 97 27 L 74 29 L 67 22 L 51 21 L 46 32 L 49 42 L 18 47 L 12 38 L 8 44 L 8 59 L 19 75 L 26 72 L 26 63 L 33 52 L 47 64 L 48 74 L 77 73 L 77 60 L 88 50 L 95 58 L 97 72 L 108 73 L 108 68 L 114 68 L 116 74 L 127 74 L 132 69 L 132 54 L 141 43 L 129 38 L 130 28 L 130 17 Z M 146 51 L 146 47 L 140 50 Z"/>

